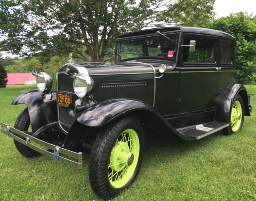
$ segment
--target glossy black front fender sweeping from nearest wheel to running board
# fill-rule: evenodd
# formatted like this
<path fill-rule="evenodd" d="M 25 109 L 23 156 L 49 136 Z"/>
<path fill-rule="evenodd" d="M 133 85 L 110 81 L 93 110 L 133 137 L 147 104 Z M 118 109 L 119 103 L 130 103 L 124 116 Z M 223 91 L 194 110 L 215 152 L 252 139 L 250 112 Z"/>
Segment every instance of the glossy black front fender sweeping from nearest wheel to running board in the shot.
<path fill-rule="evenodd" d="M 77 121 L 85 126 L 102 127 L 124 114 L 140 116 L 142 120 L 143 118 L 150 119 L 152 122 L 157 122 L 160 126 L 168 128 L 180 138 L 189 140 L 179 134 L 155 108 L 146 102 L 135 99 L 111 99 L 98 102 L 82 112 Z"/>

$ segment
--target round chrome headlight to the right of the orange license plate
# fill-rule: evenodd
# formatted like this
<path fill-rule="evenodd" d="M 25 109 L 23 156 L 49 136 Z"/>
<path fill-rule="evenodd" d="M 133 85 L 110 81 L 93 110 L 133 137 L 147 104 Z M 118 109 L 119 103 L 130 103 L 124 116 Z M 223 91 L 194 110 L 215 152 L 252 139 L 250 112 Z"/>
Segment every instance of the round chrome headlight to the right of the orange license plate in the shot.
<path fill-rule="evenodd" d="M 74 76 L 73 87 L 76 95 L 79 98 L 89 95 L 94 86 L 94 82 L 89 75 L 79 73 Z"/>

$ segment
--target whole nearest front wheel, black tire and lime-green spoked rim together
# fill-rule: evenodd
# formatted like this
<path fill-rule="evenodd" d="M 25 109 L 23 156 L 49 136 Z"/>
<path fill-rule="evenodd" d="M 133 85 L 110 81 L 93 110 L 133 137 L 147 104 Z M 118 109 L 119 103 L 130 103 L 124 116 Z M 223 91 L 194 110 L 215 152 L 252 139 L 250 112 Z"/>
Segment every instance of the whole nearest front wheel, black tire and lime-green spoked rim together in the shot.
<path fill-rule="evenodd" d="M 136 179 L 144 152 L 144 132 L 139 120 L 127 116 L 97 136 L 89 163 L 93 191 L 110 199 Z"/>

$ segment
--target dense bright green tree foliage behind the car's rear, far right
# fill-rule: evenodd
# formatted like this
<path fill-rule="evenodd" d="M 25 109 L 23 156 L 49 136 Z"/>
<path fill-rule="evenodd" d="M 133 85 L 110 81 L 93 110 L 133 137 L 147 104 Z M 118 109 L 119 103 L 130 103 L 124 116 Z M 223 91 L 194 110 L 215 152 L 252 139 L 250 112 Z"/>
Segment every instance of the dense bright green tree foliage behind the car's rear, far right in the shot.
<path fill-rule="evenodd" d="M 230 33 L 236 38 L 236 70 L 239 82 L 256 81 L 256 24 L 243 12 L 214 20 L 209 28 Z"/>

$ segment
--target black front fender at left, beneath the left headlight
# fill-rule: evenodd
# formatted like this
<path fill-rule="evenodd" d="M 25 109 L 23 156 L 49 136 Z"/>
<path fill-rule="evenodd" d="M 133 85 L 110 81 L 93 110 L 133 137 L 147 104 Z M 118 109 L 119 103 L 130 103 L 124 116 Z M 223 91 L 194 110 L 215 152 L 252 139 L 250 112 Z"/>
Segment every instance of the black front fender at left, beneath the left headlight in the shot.
<path fill-rule="evenodd" d="M 42 96 L 38 89 L 27 91 L 12 101 L 12 105 L 26 104 L 30 116 L 32 133 L 39 128 L 58 121 L 56 94 L 52 93 L 52 100 Z"/>

